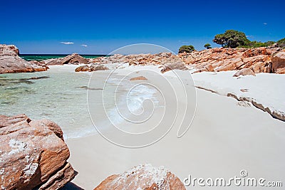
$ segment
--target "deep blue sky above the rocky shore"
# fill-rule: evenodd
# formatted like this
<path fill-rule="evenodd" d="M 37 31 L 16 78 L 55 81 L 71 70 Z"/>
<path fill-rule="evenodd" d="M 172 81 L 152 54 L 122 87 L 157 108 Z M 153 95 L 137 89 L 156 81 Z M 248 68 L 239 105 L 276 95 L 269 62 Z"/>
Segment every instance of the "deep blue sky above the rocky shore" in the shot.
<path fill-rule="evenodd" d="M 0 43 L 21 53 L 108 54 L 132 43 L 201 50 L 227 29 L 252 41 L 285 37 L 281 0 L 0 1 Z"/>

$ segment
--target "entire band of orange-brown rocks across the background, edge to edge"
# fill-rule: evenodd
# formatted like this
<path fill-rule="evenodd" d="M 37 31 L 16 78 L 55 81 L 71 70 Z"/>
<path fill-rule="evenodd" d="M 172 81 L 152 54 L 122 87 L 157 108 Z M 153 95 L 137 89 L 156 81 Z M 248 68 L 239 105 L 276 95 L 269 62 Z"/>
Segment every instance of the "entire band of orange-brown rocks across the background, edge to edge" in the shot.
<path fill-rule="evenodd" d="M 212 48 L 192 53 L 137 54 L 123 56 L 115 54 L 98 58 L 83 58 L 73 53 L 64 58 L 42 61 L 26 61 L 19 57 L 19 49 L 13 45 L 0 45 L 0 74 L 35 72 L 48 69 L 48 65 L 86 64 L 76 68 L 76 72 L 107 70 L 105 64 L 128 63 L 128 65 L 160 65 L 161 72 L 187 70 L 219 72 L 249 68 L 254 73 L 285 73 L 285 51 L 276 46 L 267 48 Z"/>

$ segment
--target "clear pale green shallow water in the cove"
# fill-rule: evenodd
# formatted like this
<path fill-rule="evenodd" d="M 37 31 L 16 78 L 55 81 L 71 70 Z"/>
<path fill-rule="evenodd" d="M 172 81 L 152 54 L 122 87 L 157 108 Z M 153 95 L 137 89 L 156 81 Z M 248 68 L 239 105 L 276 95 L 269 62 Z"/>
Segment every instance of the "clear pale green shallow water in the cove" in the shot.
<path fill-rule="evenodd" d="M 9 73 L 0 75 L 0 114 L 26 114 L 31 120 L 46 118 L 61 126 L 65 139 L 95 134 L 96 130 L 88 112 L 87 93 L 92 92 L 96 106 L 102 105 L 104 88 L 105 112 L 115 122 L 122 122 L 113 103 L 113 92 L 126 97 L 130 90 L 129 80 L 123 82 L 123 88 L 117 89 L 118 80 L 113 75 L 104 85 L 110 71 L 93 74 L 92 83 L 88 86 L 91 73 L 75 73 L 68 69 L 50 69 L 40 73 Z M 131 112 L 141 112 L 142 102 L 154 98 L 155 92 L 147 86 L 140 86 L 128 96 L 128 108 Z M 102 113 L 103 114 L 103 113 Z M 103 124 L 100 117 L 96 123 Z M 104 125 L 103 125 L 104 127 Z"/>

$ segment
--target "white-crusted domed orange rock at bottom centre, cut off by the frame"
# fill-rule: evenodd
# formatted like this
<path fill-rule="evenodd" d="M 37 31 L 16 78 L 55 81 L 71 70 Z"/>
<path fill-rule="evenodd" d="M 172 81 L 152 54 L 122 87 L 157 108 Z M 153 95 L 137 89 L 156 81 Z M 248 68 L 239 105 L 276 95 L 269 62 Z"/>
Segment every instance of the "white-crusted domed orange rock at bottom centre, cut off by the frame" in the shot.
<path fill-rule="evenodd" d="M 150 164 L 133 167 L 123 174 L 109 176 L 94 190 L 133 190 L 133 189 L 169 189 L 185 190 L 177 176 L 163 167 L 152 167 Z"/>

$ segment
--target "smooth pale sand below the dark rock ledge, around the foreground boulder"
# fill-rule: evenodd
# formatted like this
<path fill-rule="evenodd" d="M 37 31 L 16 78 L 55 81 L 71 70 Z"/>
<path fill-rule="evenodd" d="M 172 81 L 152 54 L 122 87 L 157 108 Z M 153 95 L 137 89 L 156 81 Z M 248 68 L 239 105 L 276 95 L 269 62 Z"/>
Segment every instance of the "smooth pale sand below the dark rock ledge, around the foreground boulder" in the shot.
<path fill-rule="evenodd" d="M 120 69 L 118 73 L 125 75 L 125 72 L 128 72 L 128 68 Z M 148 80 L 151 78 L 144 76 Z M 281 160 L 285 154 L 281 153 L 281 149 L 285 137 L 278 134 L 284 134 L 284 122 L 273 119 L 255 107 L 239 106 L 232 97 L 196 90 L 197 113 L 190 130 L 180 139 L 176 137 L 177 125 L 159 142 L 140 149 L 118 147 L 98 134 L 67 139 L 71 150 L 69 160 L 78 171 L 78 176 L 72 182 L 83 189 L 92 189 L 111 174 L 119 174 L 145 163 L 155 167 L 165 166 L 180 179 L 188 174 L 205 178 L 233 176 L 244 168 L 251 176 L 264 176 L 266 179 L 282 176 L 285 165 Z M 259 144 L 266 145 L 260 147 Z M 247 148 L 244 149 L 244 146 Z M 275 150 L 278 149 L 279 156 L 276 157 Z M 180 164 L 177 164 L 177 156 Z M 207 159 L 209 157 L 212 159 Z M 124 162 L 126 159 L 128 163 Z M 271 164 L 270 168 L 264 167 L 270 159 L 274 159 L 276 164 Z M 183 163 L 187 163 L 188 167 Z"/>

